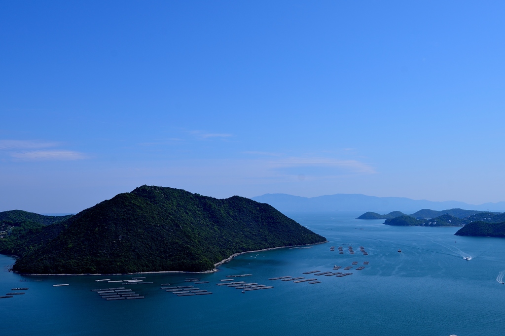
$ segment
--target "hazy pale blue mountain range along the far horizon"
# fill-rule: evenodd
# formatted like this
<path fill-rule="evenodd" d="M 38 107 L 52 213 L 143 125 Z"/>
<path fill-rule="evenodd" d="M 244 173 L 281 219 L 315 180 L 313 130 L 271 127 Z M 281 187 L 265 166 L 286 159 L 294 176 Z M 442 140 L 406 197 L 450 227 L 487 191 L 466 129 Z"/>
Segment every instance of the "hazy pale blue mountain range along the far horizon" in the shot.
<path fill-rule="evenodd" d="M 406 197 L 376 197 L 363 194 L 335 194 L 310 198 L 288 194 L 265 194 L 252 197 L 251 199 L 260 203 L 268 203 L 281 212 L 375 211 L 384 213 L 399 210 L 409 213 L 419 209 L 440 211 L 452 208 L 498 212 L 505 211 L 505 202 L 474 205 L 458 201 L 433 202 L 428 200 L 414 200 Z"/>

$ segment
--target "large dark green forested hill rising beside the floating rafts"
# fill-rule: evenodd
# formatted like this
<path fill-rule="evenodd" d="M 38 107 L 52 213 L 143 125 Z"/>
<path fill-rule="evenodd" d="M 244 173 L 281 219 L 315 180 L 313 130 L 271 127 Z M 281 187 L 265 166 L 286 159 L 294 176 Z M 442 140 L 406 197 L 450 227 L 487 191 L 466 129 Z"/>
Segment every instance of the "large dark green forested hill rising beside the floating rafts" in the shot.
<path fill-rule="evenodd" d="M 14 270 L 204 271 L 237 252 L 326 241 L 268 204 L 149 186 L 37 230 L 24 238 L 36 246 L 21 254 Z M 40 243 L 44 238 L 50 239 Z"/>

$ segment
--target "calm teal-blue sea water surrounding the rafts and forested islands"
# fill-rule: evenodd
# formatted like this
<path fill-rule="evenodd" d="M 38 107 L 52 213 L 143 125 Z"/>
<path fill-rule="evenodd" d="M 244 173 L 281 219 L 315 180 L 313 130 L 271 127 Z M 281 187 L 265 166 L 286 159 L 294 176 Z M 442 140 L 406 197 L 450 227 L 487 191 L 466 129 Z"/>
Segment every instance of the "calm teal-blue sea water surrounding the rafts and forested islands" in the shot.
<path fill-rule="evenodd" d="M 505 273 L 505 239 L 454 236 L 459 228 L 391 227 L 383 220 L 355 219 L 360 214 L 289 213 L 329 243 L 243 254 L 215 273 L 143 274 L 144 281 L 154 282 L 147 285 L 95 282 L 142 275 L 21 276 L 8 271 L 14 259 L 0 255 L 0 295 L 11 288 L 29 288 L 24 295 L 0 299 L 0 334 L 504 334 L 505 285 L 498 280 Z M 348 245 L 355 255 L 348 253 Z M 338 253 L 338 246 L 345 254 Z M 352 275 L 302 274 L 350 266 L 352 261 L 359 263 L 348 271 Z M 370 264 L 356 270 L 364 261 Z M 274 288 L 242 294 L 216 286 L 226 275 L 244 273 L 252 275 L 236 280 Z M 268 279 L 287 275 L 310 276 L 321 283 Z M 194 286 L 212 295 L 178 297 L 160 289 L 166 283 L 188 285 L 185 278 L 196 276 L 209 283 Z M 105 301 L 90 291 L 106 287 L 131 288 L 145 299 Z"/>

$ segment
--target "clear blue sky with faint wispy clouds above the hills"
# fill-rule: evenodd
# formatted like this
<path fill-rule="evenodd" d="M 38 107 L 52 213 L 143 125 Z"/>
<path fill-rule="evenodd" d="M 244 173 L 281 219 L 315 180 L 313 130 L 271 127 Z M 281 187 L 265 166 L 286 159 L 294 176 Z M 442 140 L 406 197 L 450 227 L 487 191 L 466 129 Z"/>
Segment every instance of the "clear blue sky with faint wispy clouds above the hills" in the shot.
<path fill-rule="evenodd" d="M 0 210 L 143 184 L 505 200 L 503 2 L 2 2 Z"/>

